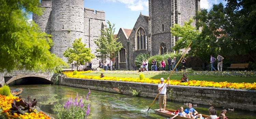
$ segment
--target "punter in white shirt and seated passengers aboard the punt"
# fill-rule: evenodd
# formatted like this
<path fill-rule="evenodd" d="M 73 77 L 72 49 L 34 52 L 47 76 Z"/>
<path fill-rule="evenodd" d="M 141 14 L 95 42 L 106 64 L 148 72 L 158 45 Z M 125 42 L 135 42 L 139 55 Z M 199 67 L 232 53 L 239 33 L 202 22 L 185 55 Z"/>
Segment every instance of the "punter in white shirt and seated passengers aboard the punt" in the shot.
<path fill-rule="evenodd" d="M 166 108 L 166 92 L 167 92 L 167 86 L 170 85 L 169 77 L 167 78 L 168 84 L 164 83 L 164 79 L 160 79 L 161 83 L 158 84 L 157 90 L 159 91 L 159 98 L 158 98 L 158 104 L 160 107 L 160 110 L 163 113 L 165 113 Z M 163 110 L 162 110 L 163 105 Z M 217 112 L 213 106 L 211 106 L 209 109 L 210 115 L 206 119 L 227 119 L 226 114 L 227 110 L 224 109 L 219 117 L 217 117 Z M 183 116 L 191 119 L 197 119 L 202 118 L 202 114 L 198 114 L 198 112 L 192 107 L 191 103 L 187 103 L 187 108 L 184 110 L 183 107 L 180 107 L 179 111 L 170 119 L 173 119 L 177 116 Z"/>

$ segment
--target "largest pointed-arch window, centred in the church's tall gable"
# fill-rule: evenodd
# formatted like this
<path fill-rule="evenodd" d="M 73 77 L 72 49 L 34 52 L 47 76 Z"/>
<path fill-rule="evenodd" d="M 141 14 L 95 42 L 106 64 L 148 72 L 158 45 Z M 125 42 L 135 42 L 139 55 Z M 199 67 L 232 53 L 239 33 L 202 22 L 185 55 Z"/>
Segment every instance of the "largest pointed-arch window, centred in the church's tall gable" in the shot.
<path fill-rule="evenodd" d="M 146 49 L 146 33 L 142 28 L 137 31 L 137 50 L 140 49 Z"/>

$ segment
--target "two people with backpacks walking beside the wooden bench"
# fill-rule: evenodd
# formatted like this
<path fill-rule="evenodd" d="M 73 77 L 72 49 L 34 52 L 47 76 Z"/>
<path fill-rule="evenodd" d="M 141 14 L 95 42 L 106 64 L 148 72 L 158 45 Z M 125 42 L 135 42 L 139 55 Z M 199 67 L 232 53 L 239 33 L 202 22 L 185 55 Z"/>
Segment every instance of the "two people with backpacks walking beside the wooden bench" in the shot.
<path fill-rule="evenodd" d="M 223 67 L 223 59 L 224 57 L 219 55 L 217 56 L 217 59 L 213 57 L 213 55 L 211 55 L 211 59 L 210 59 L 210 64 L 211 64 L 211 71 L 212 69 L 214 71 L 216 71 L 216 69 L 214 68 L 214 63 L 215 61 L 217 60 L 218 61 L 218 65 L 217 65 L 217 68 L 218 68 L 218 71 L 222 71 L 222 67 Z"/>

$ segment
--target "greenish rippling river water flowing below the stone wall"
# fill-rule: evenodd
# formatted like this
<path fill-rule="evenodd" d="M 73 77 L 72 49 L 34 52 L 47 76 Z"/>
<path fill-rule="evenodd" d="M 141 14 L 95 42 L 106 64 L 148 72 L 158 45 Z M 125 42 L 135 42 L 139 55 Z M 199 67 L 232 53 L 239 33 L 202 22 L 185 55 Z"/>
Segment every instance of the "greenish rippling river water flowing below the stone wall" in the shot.
<path fill-rule="evenodd" d="M 21 94 L 23 100 L 27 101 L 27 97 L 36 99 L 37 106 L 42 111 L 55 117 L 53 108 L 59 101 L 63 104 L 69 97 L 75 98 L 76 93 L 79 96 L 86 96 L 88 89 L 76 88 L 71 86 L 61 85 L 16 85 L 10 86 L 10 89 L 23 88 Z M 154 112 L 154 109 L 159 108 L 158 99 L 151 106 L 150 110 L 147 109 L 154 101 L 154 98 L 133 97 L 130 95 L 117 94 L 117 92 L 105 92 L 98 90 L 90 90 L 89 100 L 91 101 L 91 111 L 88 119 L 169 119 L 168 117 L 161 116 Z M 80 99 L 80 98 L 79 98 Z M 184 109 L 186 102 L 171 102 L 167 100 L 166 108 L 179 109 L 183 106 Z M 197 104 L 193 106 L 197 112 L 209 115 L 208 105 Z M 217 108 L 217 115 L 223 109 Z M 227 109 L 228 110 L 228 109 Z M 234 109 L 228 111 L 227 116 L 229 119 L 256 119 L 256 112 L 247 112 Z"/>

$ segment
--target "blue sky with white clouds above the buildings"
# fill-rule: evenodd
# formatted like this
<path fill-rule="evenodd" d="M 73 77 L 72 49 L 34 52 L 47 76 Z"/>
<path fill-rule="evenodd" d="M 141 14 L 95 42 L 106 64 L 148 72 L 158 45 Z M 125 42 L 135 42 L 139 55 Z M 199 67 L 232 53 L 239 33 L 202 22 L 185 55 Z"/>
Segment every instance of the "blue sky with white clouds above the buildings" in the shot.
<path fill-rule="evenodd" d="M 224 0 L 201 0 L 200 6 L 209 10 L 213 4 L 220 2 L 227 3 Z M 148 0 L 84 0 L 84 7 L 104 11 L 105 20 L 115 24 L 115 34 L 121 27 L 133 29 L 140 12 L 148 15 Z"/>

